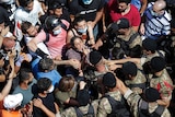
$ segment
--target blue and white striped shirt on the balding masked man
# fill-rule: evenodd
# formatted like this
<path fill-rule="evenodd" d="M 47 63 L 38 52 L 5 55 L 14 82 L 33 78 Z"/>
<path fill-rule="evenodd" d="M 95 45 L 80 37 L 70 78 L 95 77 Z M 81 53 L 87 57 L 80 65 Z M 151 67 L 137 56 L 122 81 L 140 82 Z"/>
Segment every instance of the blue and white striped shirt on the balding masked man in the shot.
<path fill-rule="evenodd" d="M 144 12 L 145 15 L 145 33 L 144 36 L 158 39 L 161 35 L 168 35 L 171 32 L 171 15 L 165 11 L 164 14 L 155 16 L 152 14 L 154 2 L 148 4 L 148 9 Z"/>

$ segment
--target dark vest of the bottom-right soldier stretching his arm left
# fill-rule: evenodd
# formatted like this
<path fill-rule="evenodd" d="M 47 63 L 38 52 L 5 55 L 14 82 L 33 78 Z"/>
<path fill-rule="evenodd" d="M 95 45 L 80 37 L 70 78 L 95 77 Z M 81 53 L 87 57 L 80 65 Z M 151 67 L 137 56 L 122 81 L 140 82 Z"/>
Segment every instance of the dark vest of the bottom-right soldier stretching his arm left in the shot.
<path fill-rule="evenodd" d="M 153 113 L 149 113 L 149 103 L 145 101 L 141 102 L 141 106 L 139 107 L 139 116 L 138 117 L 161 117 L 165 107 L 159 105 Z"/>

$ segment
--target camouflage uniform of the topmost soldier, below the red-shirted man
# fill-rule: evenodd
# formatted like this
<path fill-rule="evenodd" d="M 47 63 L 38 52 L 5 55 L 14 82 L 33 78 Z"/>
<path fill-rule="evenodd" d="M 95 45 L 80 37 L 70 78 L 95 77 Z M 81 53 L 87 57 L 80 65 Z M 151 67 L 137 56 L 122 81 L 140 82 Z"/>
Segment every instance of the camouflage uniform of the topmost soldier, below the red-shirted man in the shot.
<path fill-rule="evenodd" d="M 136 32 L 132 28 L 130 28 L 129 35 L 127 35 L 127 36 L 118 35 L 117 37 L 121 38 L 125 42 L 128 42 L 133 34 L 136 34 Z M 129 48 L 133 48 L 137 45 L 142 46 L 142 39 L 141 39 L 140 35 L 137 35 L 137 37 L 129 44 Z"/>

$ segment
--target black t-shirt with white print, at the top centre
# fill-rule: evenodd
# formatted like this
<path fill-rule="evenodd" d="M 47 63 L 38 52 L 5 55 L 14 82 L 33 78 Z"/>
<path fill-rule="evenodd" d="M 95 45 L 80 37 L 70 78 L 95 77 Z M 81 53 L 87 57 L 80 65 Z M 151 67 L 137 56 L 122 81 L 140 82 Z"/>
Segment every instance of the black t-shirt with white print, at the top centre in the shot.
<path fill-rule="evenodd" d="M 72 0 L 69 2 L 69 12 L 72 15 L 82 15 L 86 21 L 94 21 L 96 17 L 96 12 L 100 11 L 104 4 L 105 0 L 93 0 L 90 5 L 83 5 L 80 0 Z"/>

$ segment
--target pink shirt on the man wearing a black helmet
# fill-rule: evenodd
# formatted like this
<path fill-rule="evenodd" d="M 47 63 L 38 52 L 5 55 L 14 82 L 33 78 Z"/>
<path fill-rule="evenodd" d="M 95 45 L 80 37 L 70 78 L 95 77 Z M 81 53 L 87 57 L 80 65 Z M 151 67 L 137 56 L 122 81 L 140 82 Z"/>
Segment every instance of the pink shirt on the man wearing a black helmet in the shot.
<path fill-rule="evenodd" d="M 69 22 L 66 20 L 61 20 L 61 22 L 69 27 Z M 51 58 L 57 56 L 61 56 L 62 47 L 66 45 L 67 31 L 61 27 L 61 33 L 57 36 L 49 34 L 49 40 L 46 43 L 48 50 L 50 52 Z M 37 42 L 44 42 L 46 39 L 46 33 L 42 30 L 39 34 L 36 36 Z"/>

